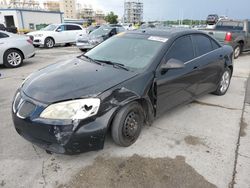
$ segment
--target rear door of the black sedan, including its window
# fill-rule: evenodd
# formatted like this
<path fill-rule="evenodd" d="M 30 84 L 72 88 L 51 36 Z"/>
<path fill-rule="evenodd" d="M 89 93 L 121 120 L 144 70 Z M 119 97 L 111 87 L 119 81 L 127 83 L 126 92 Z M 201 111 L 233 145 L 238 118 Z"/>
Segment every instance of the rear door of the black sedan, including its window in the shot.
<path fill-rule="evenodd" d="M 195 95 L 199 96 L 216 90 L 224 68 L 223 51 L 212 38 L 204 34 L 192 35 L 197 64 L 198 87 Z"/>

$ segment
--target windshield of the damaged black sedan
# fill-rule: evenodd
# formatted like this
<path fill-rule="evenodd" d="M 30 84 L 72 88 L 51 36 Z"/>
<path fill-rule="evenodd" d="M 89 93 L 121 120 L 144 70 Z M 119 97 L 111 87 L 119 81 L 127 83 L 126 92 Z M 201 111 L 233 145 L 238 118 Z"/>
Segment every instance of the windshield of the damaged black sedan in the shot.
<path fill-rule="evenodd" d="M 129 69 L 143 69 L 150 65 L 163 45 L 164 42 L 148 38 L 115 36 L 85 55 L 95 60 L 120 63 Z"/>

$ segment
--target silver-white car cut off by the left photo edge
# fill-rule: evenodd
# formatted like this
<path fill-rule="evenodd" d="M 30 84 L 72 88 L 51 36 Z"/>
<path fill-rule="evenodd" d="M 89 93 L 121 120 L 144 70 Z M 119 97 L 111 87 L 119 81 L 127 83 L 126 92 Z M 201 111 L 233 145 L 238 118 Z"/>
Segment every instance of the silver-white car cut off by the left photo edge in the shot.
<path fill-rule="evenodd" d="M 0 31 L 0 64 L 15 68 L 33 56 L 35 49 L 29 37 Z"/>

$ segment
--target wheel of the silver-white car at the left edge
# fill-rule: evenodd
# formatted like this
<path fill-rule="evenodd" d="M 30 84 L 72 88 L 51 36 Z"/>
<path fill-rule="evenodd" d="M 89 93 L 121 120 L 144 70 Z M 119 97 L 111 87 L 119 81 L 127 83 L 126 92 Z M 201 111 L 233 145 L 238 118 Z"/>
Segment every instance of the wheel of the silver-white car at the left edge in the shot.
<path fill-rule="evenodd" d="M 9 49 L 4 53 L 3 64 L 8 68 L 17 68 L 23 64 L 23 54 L 19 50 Z"/>

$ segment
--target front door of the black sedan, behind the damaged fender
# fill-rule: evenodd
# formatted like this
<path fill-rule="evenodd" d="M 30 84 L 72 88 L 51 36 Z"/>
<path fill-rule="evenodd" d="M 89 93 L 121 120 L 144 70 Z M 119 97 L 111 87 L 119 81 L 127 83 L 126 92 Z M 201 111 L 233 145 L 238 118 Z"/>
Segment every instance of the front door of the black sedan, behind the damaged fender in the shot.
<path fill-rule="evenodd" d="M 176 59 L 182 61 L 185 67 L 162 72 L 160 65 L 156 70 L 157 116 L 193 99 L 199 79 L 196 76 L 197 65 L 194 57 L 194 47 L 190 36 L 178 38 L 171 45 L 162 62 Z"/>

